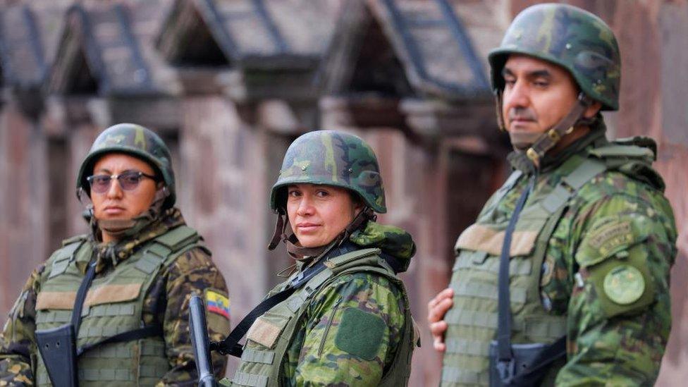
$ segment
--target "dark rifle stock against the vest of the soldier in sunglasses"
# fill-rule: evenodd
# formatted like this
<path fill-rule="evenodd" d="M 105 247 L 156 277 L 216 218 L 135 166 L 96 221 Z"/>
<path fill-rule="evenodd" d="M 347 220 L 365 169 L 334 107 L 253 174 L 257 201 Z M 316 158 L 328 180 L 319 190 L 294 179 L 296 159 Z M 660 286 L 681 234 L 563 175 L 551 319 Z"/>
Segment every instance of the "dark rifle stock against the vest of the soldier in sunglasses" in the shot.
<path fill-rule="evenodd" d="M 78 386 L 74 326 L 65 324 L 57 328 L 36 331 L 35 335 L 43 363 L 53 385 Z"/>

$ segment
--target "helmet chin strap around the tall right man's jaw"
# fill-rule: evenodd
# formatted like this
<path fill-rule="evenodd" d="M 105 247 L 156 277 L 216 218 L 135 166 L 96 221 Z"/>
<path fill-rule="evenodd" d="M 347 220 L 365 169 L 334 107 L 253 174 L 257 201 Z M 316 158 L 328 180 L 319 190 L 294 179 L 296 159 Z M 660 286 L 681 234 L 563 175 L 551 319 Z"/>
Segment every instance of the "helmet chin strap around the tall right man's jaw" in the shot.
<path fill-rule="evenodd" d="M 500 130 L 506 130 L 502 114 L 501 94 L 501 91 L 495 93 L 497 123 Z M 584 92 L 579 92 L 576 104 L 571 108 L 569 113 L 551 129 L 547 130 L 545 133 L 509 133 L 511 144 L 518 151 L 524 151 L 533 165 L 539 168 L 541 160 L 546 152 L 555 147 L 563 137 L 573 131 L 575 125 L 582 121 L 586 109 L 593 103 L 593 99 L 586 96 Z"/>

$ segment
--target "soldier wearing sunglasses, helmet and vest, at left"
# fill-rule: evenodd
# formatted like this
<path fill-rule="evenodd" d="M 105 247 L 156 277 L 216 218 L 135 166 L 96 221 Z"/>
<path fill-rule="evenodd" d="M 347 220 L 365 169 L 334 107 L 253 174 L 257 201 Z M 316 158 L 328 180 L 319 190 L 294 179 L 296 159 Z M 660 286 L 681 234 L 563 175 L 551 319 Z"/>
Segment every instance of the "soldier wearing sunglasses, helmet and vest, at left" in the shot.
<path fill-rule="evenodd" d="M 82 386 L 192 386 L 188 297 L 205 298 L 212 340 L 229 330 L 229 301 L 202 238 L 174 207 L 168 148 L 140 125 L 106 129 L 82 162 L 77 195 L 90 233 L 65 240 L 22 289 L 0 336 L 0 386 L 58 385 L 66 370 L 54 370 L 41 340 L 69 325 L 75 349 L 64 353 Z M 226 357 L 213 365 L 223 375 Z"/>

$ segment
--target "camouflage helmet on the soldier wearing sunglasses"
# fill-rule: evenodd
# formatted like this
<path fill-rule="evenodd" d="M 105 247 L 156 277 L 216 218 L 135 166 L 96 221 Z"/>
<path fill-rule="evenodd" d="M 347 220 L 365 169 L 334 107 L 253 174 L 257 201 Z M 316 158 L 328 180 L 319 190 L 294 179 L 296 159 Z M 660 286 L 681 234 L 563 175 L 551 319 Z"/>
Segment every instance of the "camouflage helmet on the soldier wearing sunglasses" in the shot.
<path fill-rule="evenodd" d="M 165 209 L 174 205 L 176 194 L 170 149 L 152 130 L 133 123 L 113 125 L 98 135 L 91 150 L 81 163 L 76 180 L 77 190 L 82 189 L 87 195 L 90 195 L 87 177 L 93 173 L 96 161 L 108 153 L 129 154 L 150 164 L 155 170 L 156 176 L 161 176 L 164 180 L 169 192 L 162 208 Z"/>

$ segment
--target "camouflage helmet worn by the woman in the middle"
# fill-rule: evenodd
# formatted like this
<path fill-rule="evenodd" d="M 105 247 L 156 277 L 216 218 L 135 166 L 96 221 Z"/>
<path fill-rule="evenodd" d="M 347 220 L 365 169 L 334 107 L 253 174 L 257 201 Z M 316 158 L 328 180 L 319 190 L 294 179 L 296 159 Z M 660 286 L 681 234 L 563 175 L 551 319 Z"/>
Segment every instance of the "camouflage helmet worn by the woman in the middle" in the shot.
<path fill-rule="evenodd" d="M 298 137 L 284 155 L 272 186 L 270 208 L 285 205 L 290 184 L 334 185 L 356 192 L 375 212 L 385 213 L 385 189 L 373 149 L 360 137 L 336 130 L 317 130 Z"/>

